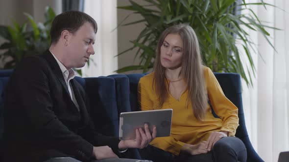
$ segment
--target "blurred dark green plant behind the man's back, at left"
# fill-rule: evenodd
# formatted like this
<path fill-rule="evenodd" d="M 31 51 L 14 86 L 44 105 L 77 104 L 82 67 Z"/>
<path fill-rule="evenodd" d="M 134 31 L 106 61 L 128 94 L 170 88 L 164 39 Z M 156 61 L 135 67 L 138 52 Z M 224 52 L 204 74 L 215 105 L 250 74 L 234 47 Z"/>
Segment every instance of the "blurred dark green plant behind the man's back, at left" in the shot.
<path fill-rule="evenodd" d="M 24 57 L 42 54 L 50 44 L 50 27 L 55 17 L 54 11 L 47 7 L 45 22 L 38 24 L 32 16 L 24 13 L 27 20 L 23 24 L 13 20 L 13 26 L 0 25 L 0 36 L 5 39 L 0 45 L 2 69 L 14 69 Z M 27 27 L 28 24 L 28 27 Z"/>

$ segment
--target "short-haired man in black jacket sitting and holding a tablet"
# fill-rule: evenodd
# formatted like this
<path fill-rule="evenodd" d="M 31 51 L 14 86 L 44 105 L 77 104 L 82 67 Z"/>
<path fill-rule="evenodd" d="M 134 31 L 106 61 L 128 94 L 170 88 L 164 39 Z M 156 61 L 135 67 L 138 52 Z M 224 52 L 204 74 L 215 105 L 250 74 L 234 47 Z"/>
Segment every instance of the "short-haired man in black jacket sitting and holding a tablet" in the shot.
<path fill-rule="evenodd" d="M 156 128 L 151 133 L 147 125 L 126 141 L 94 130 L 72 68 L 95 54 L 96 31 L 89 15 L 62 13 L 52 22 L 49 51 L 18 64 L 4 94 L 4 162 L 135 162 L 117 154 L 155 138 Z"/>

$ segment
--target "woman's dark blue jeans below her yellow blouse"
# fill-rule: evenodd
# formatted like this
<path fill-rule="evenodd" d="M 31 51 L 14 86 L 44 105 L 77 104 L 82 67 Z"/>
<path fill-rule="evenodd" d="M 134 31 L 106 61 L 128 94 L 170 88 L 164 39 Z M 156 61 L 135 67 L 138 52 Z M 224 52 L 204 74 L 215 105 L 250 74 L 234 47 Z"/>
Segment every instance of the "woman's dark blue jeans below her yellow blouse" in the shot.
<path fill-rule="evenodd" d="M 246 147 L 237 137 L 220 139 L 212 151 L 206 154 L 173 156 L 151 145 L 139 151 L 142 159 L 153 162 L 246 162 L 247 160 Z"/>

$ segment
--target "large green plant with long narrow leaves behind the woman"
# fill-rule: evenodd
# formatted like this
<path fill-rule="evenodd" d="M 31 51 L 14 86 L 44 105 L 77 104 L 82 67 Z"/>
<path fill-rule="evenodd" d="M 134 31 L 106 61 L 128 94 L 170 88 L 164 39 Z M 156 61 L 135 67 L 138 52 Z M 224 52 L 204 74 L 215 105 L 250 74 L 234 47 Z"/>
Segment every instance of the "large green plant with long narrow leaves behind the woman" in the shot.
<path fill-rule="evenodd" d="M 251 58 L 251 49 L 254 44 L 250 40 L 249 30 L 259 31 L 268 40 L 269 33 L 258 19 L 256 14 L 247 8 L 244 0 L 236 3 L 236 0 L 145 0 L 147 4 L 140 5 L 137 1 L 130 0 L 129 6 L 118 7 L 120 9 L 134 11 L 143 19 L 123 25 L 133 25 L 145 22 L 145 29 L 133 41 L 133 47 L 121 52 L 137 48 L 136 56 L 140 57 L 139 65 L 126 66 L 117 72 L 140 70 L 147 72 L 153 67 L 156 44 L 161 33 L 169 26 L 178 23 L 188 23 L 197 34 L 203 63 L 214 72 L 233 72 L 241 74 L 241 77 L 251 83 L 252 69 L 255 67 Z M 269 5 L 262 0 L 255 5 Z M 248 10 L 249 14 L 242 14 L 241 10 Z M 236 14 L 237 13 L 237 14 Z M 275 28 L 274 28 L 275 29 Z M 237 44 L 243 49 L 238 49 Z M 270 43 L 272 46 L 272 44 Z M 273 47 L 273 46 L 272 46 Z M 242 52 L 241 52 L 242 51 Z M 255 51 L 254 54 L 257 54 Z M 241 58 L 247 58 L 250 62 L 246 66 Z M 247 71 L 248 73 L 246 73 Z"/>

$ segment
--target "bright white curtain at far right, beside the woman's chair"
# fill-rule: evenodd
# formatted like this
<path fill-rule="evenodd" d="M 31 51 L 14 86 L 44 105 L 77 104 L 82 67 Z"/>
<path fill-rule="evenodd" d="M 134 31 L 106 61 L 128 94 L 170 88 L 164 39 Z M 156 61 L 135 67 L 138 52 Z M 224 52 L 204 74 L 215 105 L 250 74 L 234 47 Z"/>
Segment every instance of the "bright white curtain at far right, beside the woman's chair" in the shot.
<path fill-rule="evenodd" d="M 245 0 L 247 3 L 260 0 Z M 288 10 L 288 0 L 264 0 Z M 277 162 L 279 153 L 289 151 L 289 13 L 281 9 L 250 5 L 266 25 L 276 51 L 262 34 L 248 31 L 259 54 L 254 54 L 256 77 L 253 87 L 243 85 L 245 120 L 253 147 L 265 162 Z"/>

